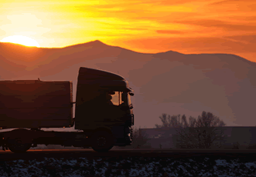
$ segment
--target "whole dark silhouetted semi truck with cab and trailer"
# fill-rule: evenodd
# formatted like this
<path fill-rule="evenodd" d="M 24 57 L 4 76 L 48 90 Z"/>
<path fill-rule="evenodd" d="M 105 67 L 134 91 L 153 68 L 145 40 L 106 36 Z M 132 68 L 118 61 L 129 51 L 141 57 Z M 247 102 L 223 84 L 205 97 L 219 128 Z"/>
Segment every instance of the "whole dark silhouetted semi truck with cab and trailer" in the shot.
<path fill-rule="evenodd" d="M 114 145 L 131 145 L 132 95 L 121 75 L 94 68 L 80 67 L 76 102 L 71 81 L 0 80 L 2 150 L 63 145 L 108 152 Z M 70 127 L 76 131 L 47 131 Z"/>

